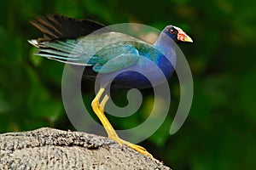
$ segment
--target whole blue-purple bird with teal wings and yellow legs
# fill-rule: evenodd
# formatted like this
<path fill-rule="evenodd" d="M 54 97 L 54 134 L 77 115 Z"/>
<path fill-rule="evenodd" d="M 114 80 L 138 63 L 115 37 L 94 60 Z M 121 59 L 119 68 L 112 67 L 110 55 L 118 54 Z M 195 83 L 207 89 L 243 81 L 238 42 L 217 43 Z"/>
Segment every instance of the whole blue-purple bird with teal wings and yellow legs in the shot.
<path fill-rule="evenodd" d="M 174 43 L 193 42 L 192 39 L 177 26 L 166 26 L 154 44 L 149 44 L 105 28 L 96 21 L 76 20 L 61 14 L 38 17 L 31 23 L 44 34 L 44 38 L 28 41 L 38 48 L 36 55 L 70 65 L 84 65 L 85 78 L 100 77 L 100 88 L 91 106 L 108 138 L 153 157 L 142 146 L 119 139 L 104 115 L 109 99 L 106 88 L 112 84 L 111 88 L 143 89 L 152 87 L 152 82 L 154 86 L 160 84 L 164 79 L 158 75 L 155 65 L 166 78 L 171 77 L 176 65 Z M 99 29 L 102 31 L 97 31 Z M 92 33 L 94 31 L 96 33 Z M 169 41 L 170 38 L 173 41 Z M 150 82 L 140 72 L 150 75 Z M 109 77 L 114 77 L 113 82 L 109 82 Z"/>

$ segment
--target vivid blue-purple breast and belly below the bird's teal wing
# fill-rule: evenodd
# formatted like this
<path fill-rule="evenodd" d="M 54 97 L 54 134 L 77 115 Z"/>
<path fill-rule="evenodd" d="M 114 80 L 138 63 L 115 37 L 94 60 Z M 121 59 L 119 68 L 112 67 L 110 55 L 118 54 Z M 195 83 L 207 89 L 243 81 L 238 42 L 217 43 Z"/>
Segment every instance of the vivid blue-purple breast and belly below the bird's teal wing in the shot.
<path fill-rule="evenodd" d="M 143 89 L 165 82 L 172 76 L 173 71 L 174 66 L 163 54 L 160 54 L 154 61 L 144 55 L 136 65 L 105 76 L 114 77 L 113 85 L 115 87 Z"/>

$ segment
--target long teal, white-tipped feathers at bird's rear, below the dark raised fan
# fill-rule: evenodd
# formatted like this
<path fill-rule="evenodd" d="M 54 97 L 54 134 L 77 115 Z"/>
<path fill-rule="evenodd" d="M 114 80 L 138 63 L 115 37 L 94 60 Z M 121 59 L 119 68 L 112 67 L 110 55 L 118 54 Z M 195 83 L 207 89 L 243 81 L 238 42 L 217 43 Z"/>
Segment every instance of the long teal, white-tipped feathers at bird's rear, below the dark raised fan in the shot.
<path fill-rule="evenodd" d="M 67 64 L 90 65 L 90 58 L 84 53 L 84 48 L 76 40 L 40 42 L 40 40 L 33 39 L 28 40 L 28 42 L 38 48 L 38 53 L 35 55 L 55 59 Z"/>

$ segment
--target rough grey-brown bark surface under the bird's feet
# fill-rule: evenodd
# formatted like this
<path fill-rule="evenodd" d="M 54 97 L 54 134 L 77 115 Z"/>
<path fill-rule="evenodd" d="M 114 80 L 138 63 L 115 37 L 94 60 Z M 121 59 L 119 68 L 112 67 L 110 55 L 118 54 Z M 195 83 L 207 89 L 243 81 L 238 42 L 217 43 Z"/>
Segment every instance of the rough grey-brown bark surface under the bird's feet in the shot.
<path fill-rule="evenodd" d="M 89 133 L 40 128 L 0 134 L 0 169 L 171 169 Z"/>

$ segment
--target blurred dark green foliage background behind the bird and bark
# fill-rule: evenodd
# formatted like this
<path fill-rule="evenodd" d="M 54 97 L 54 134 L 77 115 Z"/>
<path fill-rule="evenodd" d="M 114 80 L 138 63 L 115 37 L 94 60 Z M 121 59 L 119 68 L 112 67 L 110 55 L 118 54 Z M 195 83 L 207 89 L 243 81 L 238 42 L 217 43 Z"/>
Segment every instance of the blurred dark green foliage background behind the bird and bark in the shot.
<path fill-rule="evenodd" d="M 180 45 L 194 77 L 193 105 L 183 127 L 170 136 L 179 99 L 174 75 L 170 114 L 141 145 L 173 169 L 255 169 L 255 6 L 253 0 L 1 0 L 0 133 L 38 127 L 75 130 L 61 101 L 64 65 L 32 55 L 35 48 L 26 39 L 42 35 L 29 20 L 60 13 L 105 25 L 138 22 L 162 30 L 173 24 L 194 40 Z M 90 106 L 93 89 L 90 82 L 83 89 L 86 105 Z M 146 91 L 136 115 L 122 120 L 110 117 L 110 122 L 119 129 L 136 126 L 150 102 L 152 96 Z"/>

